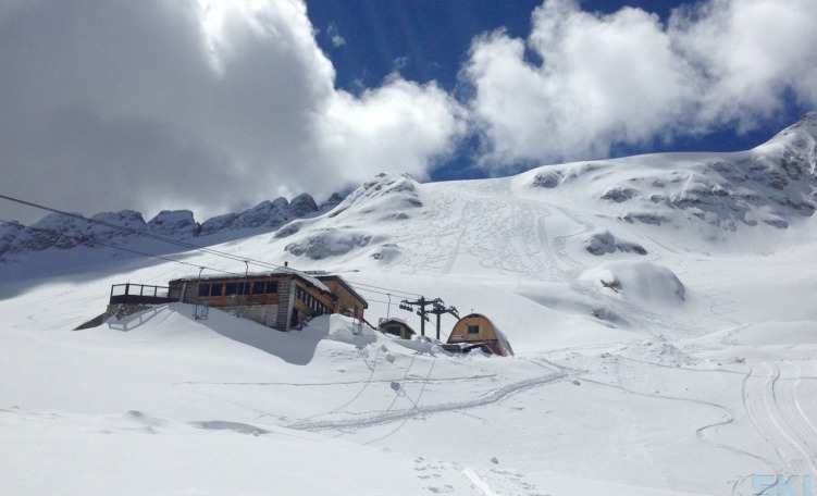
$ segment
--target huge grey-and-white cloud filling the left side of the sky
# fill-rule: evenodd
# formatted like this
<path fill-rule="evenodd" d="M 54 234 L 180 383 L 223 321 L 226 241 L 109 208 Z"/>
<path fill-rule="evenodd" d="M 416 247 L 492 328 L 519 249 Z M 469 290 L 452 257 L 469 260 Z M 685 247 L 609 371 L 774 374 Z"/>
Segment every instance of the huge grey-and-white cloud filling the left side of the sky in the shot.
<path fill-rule="evenodd" d="M 301 0 L 3 3 L 0 73 L 2 193 L 87 214 L 325 197 L 461 133 L 433 85 L 336 90 Z"/>

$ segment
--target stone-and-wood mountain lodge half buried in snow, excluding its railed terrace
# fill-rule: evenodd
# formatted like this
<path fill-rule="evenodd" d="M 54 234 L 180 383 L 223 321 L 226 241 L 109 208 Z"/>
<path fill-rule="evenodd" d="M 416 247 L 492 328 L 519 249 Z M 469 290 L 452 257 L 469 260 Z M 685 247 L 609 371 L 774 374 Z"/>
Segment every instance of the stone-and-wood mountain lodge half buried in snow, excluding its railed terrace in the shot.
<path fill-rule="evenodd" d="M 324 283 L 323 280 L 326 280 Z M 339 276 L 282 270 L 247 276 L 184 277 L 170 282 L 181 301 L 225 308 L 280 331 L 324 313 L 363 319 L 367 301 Z"/>

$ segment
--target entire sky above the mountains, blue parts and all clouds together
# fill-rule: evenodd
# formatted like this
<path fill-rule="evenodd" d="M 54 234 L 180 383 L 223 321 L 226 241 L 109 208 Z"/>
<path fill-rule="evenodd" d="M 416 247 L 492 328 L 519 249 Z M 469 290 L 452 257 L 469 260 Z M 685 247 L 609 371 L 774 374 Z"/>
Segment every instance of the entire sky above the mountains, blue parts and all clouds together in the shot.
<path fill-rule="evenodd" d="M 0 193 L 203 221 L 381 171 L 747 149 L 817 108 L 815 24 L 814 0 L 0 2 Z"/>

